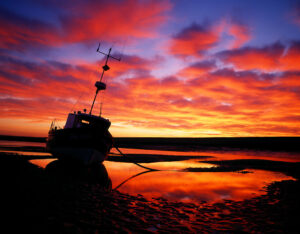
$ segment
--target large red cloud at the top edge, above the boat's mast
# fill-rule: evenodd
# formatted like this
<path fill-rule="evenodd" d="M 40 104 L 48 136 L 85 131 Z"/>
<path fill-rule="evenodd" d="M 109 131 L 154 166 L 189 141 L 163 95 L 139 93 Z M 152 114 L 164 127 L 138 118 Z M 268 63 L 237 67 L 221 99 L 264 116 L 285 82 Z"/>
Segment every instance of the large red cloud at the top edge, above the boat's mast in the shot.
<path fill-rule="evenodd" d="M 68 42 L 122 36 L 153 37 L 156 27 L 167 19 L 166 12 L 171 5 L 168 1 L 126 0 L 105 4 L 82 1 L 72 8 L 71 15 L 61 18 L 64 39 Z"/>

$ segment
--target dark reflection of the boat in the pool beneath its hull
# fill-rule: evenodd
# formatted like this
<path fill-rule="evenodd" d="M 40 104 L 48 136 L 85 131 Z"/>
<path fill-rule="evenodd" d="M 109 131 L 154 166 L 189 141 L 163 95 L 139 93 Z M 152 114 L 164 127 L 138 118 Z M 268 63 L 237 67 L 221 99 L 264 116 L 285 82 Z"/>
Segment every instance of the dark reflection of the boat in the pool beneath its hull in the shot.
<path fill-rule="evenodd" d="M 76 162 L 55 160 L 45 167 L 45 172 L 60 182 L 97 184 L 106 191 L 112 189 L 111 179 L 102 163 L 84 166 Z"/>

